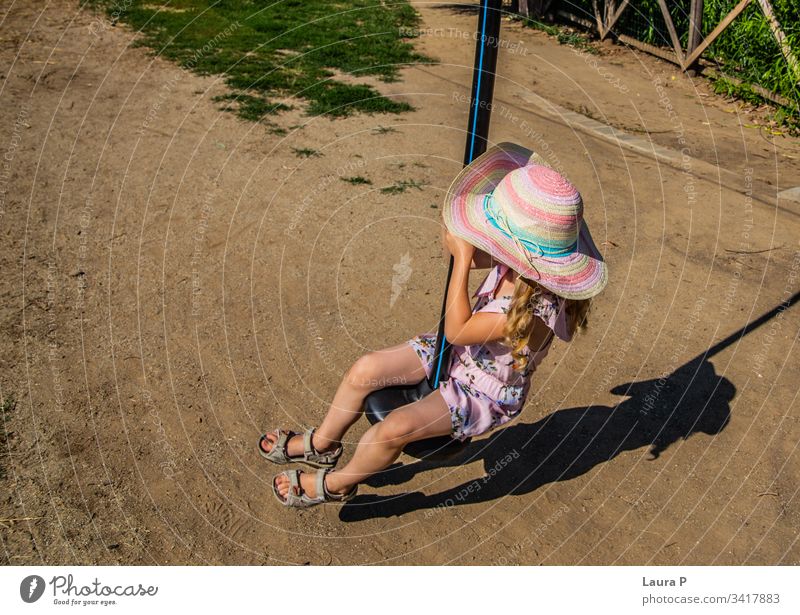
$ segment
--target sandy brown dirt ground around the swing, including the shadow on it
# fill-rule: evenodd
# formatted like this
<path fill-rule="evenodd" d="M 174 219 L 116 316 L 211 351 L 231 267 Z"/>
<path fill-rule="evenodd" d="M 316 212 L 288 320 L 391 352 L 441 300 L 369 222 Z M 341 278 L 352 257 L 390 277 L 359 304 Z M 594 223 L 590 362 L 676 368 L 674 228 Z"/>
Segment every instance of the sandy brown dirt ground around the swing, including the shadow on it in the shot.
<path fill-rule="evenodd" d="M 76 2 L 2 2 L 5 563 L 800 563 L 800 204 L 776 199 L 798 139 L 659 60 L 511 23 L 491 139 L 580 188 L 611 276 L 591 326 L 461 459 L 403 456 L 345 507 L 275 502 L 258 435 L 317 423 L 354 359 L 436 321 L 475 19 L 417 7 L 440 63 L 378 86 L 416 111 L 296 110 L 282 137 Z"/>

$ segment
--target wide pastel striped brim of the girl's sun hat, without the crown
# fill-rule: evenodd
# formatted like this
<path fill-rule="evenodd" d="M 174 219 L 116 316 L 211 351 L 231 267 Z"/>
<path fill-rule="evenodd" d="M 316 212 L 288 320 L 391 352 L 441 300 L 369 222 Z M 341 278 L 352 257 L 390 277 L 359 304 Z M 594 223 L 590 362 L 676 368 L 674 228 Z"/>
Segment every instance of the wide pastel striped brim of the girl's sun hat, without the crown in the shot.
<path fill-rule="evenodd" d="M 487 149 L 450 184 L 443 207 L 445 226 L 522 277 L 567 299 L 589 299 L 605 288 L 608 270 L 584 221 L 575 252 L 552 257 L 523 250 L 486 219 L 484 197 L 503 177 L 529 161 L 547 165 L 541 156 L 514 143 L 498 143 Z"/>

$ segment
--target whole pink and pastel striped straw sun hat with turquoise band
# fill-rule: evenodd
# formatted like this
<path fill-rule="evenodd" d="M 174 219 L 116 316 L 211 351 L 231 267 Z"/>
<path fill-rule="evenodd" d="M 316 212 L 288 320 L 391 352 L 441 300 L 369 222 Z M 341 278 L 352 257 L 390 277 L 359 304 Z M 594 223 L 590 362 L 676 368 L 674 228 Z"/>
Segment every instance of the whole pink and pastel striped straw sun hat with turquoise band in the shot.
<path fill-rule="evenodd" d="M 578 190 L 538 154 L 499 143 L 450 184 L 444 223 L 522 277 L 567 299 L 605 288 L 608 271 Z"/>

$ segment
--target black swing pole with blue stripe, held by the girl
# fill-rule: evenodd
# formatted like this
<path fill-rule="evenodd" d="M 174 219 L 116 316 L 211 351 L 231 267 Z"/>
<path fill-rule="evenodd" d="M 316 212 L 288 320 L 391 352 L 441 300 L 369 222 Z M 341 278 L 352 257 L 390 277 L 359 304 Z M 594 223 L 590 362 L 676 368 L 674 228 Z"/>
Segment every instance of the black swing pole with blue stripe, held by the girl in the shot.
<path fill-rule="evenodd" d="M 472 72 L 472 93 L 469 103 L 469 120 L 467 121 L 467 143 L 464 148 L 464 166 L 486 151 L 489 137 L 489 120 L 492 115 L 492 98 L 494 95 L 494 76 L 497 69 L 497 50 L 500 46 L 500 17 L 502 16 L 502 0 L 481 0 L 478 9 L 478 33 L 475 43 L 475 65 Z M 444 337 L 444 317 L 447 311 L 447 289 L 453 274 L 453 257 L 447 269 L 447 280 L 444 286 L 442 313 L 439 317 L 439 332 L 436 336 L 436 352 L 438 357 L 436 369 L 431 373 L 432 389 L 448 377 L 447 365 L 450 359 L 451 346 Z"/>

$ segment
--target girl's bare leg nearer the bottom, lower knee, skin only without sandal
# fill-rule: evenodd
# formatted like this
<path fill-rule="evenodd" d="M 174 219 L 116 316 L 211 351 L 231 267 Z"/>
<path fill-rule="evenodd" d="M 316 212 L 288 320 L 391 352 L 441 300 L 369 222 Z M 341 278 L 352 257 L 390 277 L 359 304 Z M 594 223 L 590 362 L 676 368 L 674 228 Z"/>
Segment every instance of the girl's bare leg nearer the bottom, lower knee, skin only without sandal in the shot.
<path fill-rule="evenodd" d="M 451 433 L 450 410 L 439 391 L 398 408 L 386 420 L 370 427 L 358 443 L 356 452 L 344 468 L 330 472 L 325 485 L 331 493 L 347 493 L 369 476 L 389 467 L 409 442 Z M 309 497 L 315 497 L 314 475 L 300 475 L 300 485 Z M 278 476 L 278 492 L 286 497 L 289 480 Z"/>

